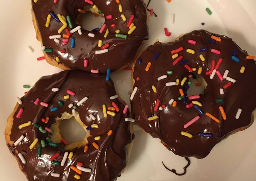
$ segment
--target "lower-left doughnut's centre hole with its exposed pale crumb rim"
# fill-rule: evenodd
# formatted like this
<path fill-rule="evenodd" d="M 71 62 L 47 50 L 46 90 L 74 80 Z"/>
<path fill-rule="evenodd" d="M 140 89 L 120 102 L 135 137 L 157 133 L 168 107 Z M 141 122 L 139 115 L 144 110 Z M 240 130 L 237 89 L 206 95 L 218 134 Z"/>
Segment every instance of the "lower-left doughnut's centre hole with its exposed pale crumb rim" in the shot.
<path fill-rule="evenodd" d="M 64 138 L 69 144 L 65 146 L 65 150 L 79 148 L 88 143 L 87 137 L 90 136 L 87 126 L 81 121 L 79 114 L 74 116 L 67 112 L 62 113 L 61 117 L 55 118 L 55 123 L 51 125 L 54 134 L 50 135 L 51 141 L 61 143 Z"/>

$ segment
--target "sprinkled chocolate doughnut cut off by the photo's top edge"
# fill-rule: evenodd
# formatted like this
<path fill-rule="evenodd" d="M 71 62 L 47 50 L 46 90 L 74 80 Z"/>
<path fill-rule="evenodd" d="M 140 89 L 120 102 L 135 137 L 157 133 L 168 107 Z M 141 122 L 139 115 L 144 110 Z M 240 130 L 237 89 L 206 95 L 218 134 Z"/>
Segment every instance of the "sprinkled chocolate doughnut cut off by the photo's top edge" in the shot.
<path fill-rule="evenodd" d="M 81 28 L 86 11 L 104 17 L 102 27 Z M 46 61 L 63 70 L 121 70 L 148 39 L 143 0 L 32 0 L 32 16 Z"/>

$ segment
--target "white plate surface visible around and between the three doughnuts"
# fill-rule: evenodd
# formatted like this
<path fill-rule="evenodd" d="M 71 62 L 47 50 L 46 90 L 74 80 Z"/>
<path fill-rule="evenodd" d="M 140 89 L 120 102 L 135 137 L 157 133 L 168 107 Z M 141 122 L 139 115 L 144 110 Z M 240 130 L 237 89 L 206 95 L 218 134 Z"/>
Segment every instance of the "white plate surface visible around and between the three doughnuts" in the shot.
<path fill-rule="evenodd" d="M 148 0 L 146 0 L 147 2 Z M 33 85 L 41 76 L 59 72 L 45 61 L 36 61 L 42 56 L 40 43 L 35 38 L 29 0 L 0 0 L 0 180 L 26 181 L 16 160 L 5 145 L 4 128 L 6 119 L 16 104 L 16 96 L 22 96 L 27 89 L 24 84 Z M 213 14 L 205 11 L 209 7 Z M 150 39 L 144 48 L 159 38 L 161 42 L 175 39 L 182 33 L 195 29 L 225 34 L 249 54 L 256 54 L 256 1 L 255 0 L 152 0 L 158 17 L 149 17 Z M 170 15 L 175 13 L 175 23 Z M 205 22 L 205 26 L 201 25 Z M 165 36 L 164 28 L 172 33 Z M 31 53 L 28 46 L 34 48 Z M 130 71 L 112 73 L 117 92 L 129 102 L 131 89 Z M 246 98 L 245 98 L 246 99 Z M 135 143 L 132 157 L 120 181 L 253 181 L 256 180 L 256 124 L 238 132 L 217 144 L 205 159 L 191 158 L 191 166 L 185 176 L 176 176 L 166 170 L 183 171 L 184 158 L 174 155 L 162 146 L 158 139 L 151 138 L 135 127 Z"/>

